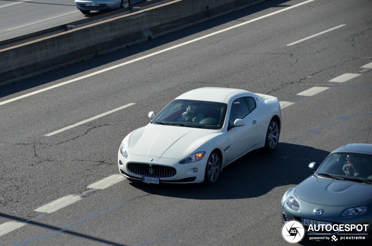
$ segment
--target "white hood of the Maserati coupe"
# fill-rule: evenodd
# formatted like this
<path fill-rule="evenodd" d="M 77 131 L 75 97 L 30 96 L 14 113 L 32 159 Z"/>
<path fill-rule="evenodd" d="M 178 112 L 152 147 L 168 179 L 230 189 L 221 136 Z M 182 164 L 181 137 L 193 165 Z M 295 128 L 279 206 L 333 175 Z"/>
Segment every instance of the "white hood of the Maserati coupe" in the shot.
<path fill-rule="evenodd" d="M 132 133 L 129 152 L 132 155 L 180 159 L 218 133 L 219 130 L 148 124 Z"/>

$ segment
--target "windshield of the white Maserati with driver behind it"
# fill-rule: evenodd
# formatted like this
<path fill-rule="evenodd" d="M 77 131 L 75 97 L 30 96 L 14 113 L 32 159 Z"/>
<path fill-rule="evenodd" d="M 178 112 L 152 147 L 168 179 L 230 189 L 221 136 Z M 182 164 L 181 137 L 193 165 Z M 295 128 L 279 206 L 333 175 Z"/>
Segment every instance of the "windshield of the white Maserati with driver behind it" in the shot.
<path fill-rule="evenodd" d="M 181 127 L 221 129 L 227 104 L 210 101 L 173 100 L 151 122 Z"/>

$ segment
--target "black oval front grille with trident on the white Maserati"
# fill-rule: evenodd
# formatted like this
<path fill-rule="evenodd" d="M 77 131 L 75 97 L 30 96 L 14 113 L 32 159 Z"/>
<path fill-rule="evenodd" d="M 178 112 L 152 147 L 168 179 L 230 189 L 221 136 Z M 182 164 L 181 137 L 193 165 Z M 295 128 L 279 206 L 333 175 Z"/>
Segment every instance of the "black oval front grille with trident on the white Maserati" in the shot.
<path fill-rule="evenodd" d="M 146 177 L 171 178 L 176 175 L 176 169 L 171 166 L 148 165 L 145 163 L 129 162 L 126 164 L 129 172 Z"/>

